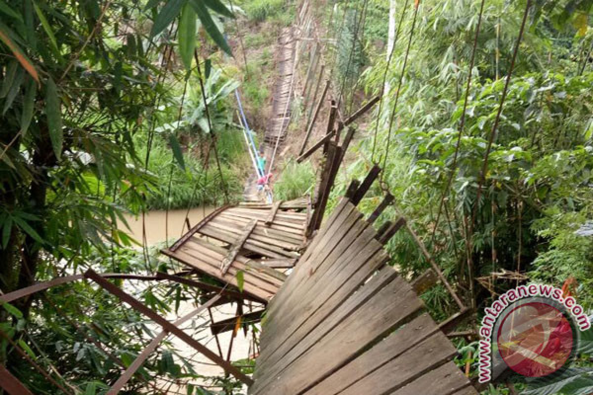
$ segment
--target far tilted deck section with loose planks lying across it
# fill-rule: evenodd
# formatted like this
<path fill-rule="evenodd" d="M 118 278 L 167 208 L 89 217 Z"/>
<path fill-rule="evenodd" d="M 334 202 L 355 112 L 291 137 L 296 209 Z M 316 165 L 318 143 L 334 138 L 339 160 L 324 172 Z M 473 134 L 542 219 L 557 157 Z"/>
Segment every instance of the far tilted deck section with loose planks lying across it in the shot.
<path fill-rule="evenodd" d="M 221 207 L 162 253 L 267 303 L 304 248 L 307 207 L 306 199 Z"/>

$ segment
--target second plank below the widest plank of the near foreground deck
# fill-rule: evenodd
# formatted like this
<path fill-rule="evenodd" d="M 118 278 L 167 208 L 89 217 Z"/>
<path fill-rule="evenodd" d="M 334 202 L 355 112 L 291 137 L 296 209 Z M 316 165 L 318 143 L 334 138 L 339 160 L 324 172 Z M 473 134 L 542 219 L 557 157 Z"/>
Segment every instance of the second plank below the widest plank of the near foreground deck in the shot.
<path fill-rule="evenodd" d="M 362 380 L 342 391 L 344 395 L 369 393 L 385 394 L 396 391 L 422 377 L 426 372 L 448 362 L 457 350 L 445 335 L 437 332 L 415 348 L 408 349 L 400 357 L 382 365 Z M 425 382 L 426 383 L 426 382 Z M 426 394 L 424 391 L 422 394 Z"/>

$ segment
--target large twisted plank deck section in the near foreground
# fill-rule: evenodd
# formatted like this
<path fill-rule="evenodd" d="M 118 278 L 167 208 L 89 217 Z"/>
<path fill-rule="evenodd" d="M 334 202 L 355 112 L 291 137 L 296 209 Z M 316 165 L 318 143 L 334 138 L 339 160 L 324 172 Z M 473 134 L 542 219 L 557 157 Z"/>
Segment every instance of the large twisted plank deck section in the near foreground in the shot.
<path fill-rule="evenodd" d="M 268 305 L 251 395 L 476 395 L 349 199 Z"/>

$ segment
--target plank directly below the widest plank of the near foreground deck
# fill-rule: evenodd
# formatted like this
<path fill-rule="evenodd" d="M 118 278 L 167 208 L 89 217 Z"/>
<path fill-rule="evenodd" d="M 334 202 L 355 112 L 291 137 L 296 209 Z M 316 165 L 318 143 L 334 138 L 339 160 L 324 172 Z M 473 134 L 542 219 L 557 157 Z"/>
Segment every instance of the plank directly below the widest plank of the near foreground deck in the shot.
<path fill-rule="evenodd" d="M 397 329 L 387 339 L 377 343 L 369 351 L 354 359 L 342 369 L 334 372 L 334 374 L 321 381 L 305 394 L 326 395 L 339 393 L 382 365 L 387 364 L 391 359 L 398 358 L 404 352 L 414 349 L 418 343 L 432 336 L 438 330 L 431 316 L 422 314 L 406 326 Z M 423 394 L 423 391 L 418 393 Z"/>

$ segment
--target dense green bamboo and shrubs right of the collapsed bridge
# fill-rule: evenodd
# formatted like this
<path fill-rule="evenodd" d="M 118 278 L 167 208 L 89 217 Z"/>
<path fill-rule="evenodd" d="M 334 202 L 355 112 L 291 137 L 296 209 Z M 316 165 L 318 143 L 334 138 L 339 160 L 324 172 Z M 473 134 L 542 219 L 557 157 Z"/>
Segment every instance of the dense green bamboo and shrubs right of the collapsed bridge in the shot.
<path fill-rule="evenodd" d="M 590 313 L 592 4 L 485 1 L 476 36 L 481 4 L 416 2 L 415 17 L 413 2 L 391 2 L 397 33 L 393 55 L 386 56 L 384 15 L 390 4 L 368 2 L 361 28 L 365 53 L 354 57 L 369 58 L 359 84 L 368 95 L 388 91 L 380 113 L 365 125 L 368 138 L 355 148 L 358 159 L 334 193 L 342 193 L 353 176 L 364 176 L 373 162 L 380 163 L 382 183 L 362 207 L 370 213 L 390 191 L 395 206 L 381 220 L 403 214 L 412 221 L 470 306 L 483 311 L 517 284 L 505 274 L 518 272 L 559 287 L 576 284 L 573 291 Z M 350 7 L 364 15 L 364 6 Z M 517 48 L 526 7 L 527 25 Z M 343 15 L 348 29 L 356 31 L 360 22 L 351 21 L 352 9 Z M 345 73 L 342 44 L 337 44 L 337 70 Z M 349 48 L 355 47 L 350 43 Z M 410 278 L 429 267 L 406 232 L 398 233 L 388 249 L 393 265 Z M 437 319 L 457 311 L 442 285 L 423 298 Z M 468 349 L 474 351 L 469 361 L 475 362 L 475 347 L 463 348 L 466 357 Z M 460 362 L 464 366 L 466 357 Z M 583 361 L 589 361 L 586 355 Z M 585 377 L 572 377 L 579 386 L 566 380 L 565 387 L 541 393 L 587 393 L 593 383 Z"/>

